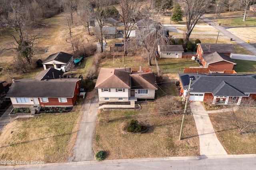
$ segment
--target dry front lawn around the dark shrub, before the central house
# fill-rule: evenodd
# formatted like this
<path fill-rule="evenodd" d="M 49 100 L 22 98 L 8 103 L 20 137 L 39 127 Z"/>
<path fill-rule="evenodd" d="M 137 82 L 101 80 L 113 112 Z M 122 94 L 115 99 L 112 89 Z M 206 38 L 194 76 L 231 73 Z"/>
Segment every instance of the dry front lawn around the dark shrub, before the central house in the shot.
<path fill-rule="evenodd" d="M 94 152 L 105 150 L 107 160 L 199 155 L 199 138 L 192 115 L 186 116 L 184 139 L 179 140 L 182 115 L 161 115 L 154 109 L 155 102 L 141 103 L 142 109 L 138 111 L 100 111 Z M 149 124 L 149 130 L 144 134 L 123 133 L 122 126 L 131 119 Z"/>

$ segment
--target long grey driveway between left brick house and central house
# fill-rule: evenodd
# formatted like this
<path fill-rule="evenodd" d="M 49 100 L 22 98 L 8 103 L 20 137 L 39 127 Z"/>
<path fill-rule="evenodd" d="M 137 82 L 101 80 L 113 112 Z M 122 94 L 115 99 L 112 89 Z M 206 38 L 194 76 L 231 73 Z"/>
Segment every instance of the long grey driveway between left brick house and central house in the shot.
<path fill-rule="evenodd" d="M 68 162 L 81 162 L 94 160 L 92 140 L 99 107 L 98 93 L 94 89 L 86 94 L 82 105 L 83 115 L 80 129 L 76 137 L 76 144 L 73 148 L 73 156 L 67 159 Z"/>

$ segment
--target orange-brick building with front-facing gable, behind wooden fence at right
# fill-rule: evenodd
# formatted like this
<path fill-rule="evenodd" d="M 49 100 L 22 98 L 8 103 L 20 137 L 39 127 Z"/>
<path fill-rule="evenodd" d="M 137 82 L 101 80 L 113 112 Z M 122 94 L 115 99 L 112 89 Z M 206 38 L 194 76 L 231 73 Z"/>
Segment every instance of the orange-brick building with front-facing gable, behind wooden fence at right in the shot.
<path fill-rule="evenodd" d="M 236 62 L 228 55 L 218 52 L 202 55 L 201 63 L 205 68 L 210 68 L 211 71 L 233 70 L 234 65 L 236 65 Z"/>

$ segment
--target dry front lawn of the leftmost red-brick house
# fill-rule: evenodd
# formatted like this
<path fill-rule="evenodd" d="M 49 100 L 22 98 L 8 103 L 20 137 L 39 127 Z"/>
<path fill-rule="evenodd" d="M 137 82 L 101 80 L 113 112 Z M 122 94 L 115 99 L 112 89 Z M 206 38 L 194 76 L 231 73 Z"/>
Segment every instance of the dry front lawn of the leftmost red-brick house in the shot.
<path fill-rule="evenodd" d="M 69 113 L 16 119 L 0 135 L 1 160 L 65 162 L 82 116 L 81 102 Z"/>

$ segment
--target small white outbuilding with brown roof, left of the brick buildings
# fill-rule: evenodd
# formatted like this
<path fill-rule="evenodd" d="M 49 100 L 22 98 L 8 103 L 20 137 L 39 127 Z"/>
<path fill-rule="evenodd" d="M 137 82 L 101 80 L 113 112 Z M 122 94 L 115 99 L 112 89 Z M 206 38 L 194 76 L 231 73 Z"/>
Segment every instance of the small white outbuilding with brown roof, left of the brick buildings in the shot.
<path fill-rule="evenodd" d="M 182 45 L 158 45 L 159 58 L 182 58 Z"/>

